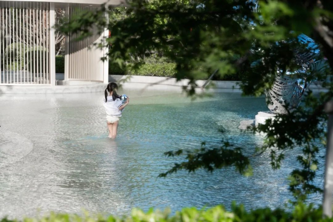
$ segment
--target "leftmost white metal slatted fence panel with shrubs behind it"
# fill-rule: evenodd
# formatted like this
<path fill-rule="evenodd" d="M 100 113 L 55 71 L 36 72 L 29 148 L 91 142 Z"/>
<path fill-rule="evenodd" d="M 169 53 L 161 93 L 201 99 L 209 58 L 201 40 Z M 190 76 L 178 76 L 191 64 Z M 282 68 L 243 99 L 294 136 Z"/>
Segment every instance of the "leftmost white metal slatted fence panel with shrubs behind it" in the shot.
<path fill-rule="evenodd" d="M 51 84 L 50 3 L 0 1 L 0 85 Z"/>

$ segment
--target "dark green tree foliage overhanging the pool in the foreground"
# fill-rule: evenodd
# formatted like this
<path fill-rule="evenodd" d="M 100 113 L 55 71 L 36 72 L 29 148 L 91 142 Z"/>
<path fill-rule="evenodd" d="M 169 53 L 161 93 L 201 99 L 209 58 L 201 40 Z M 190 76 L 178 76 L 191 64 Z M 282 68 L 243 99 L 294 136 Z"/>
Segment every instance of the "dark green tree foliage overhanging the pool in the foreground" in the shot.
<path fill-rule="evenodd" d="M 259 10 L 256 10 L 259 4 Z M 110 22 L 96 13 L 93 19 L 72 17 L 63 32 L 82 32 L 85 27 L 97 24 L 108 26 L 112 36 L 106 39 L 110 47 L 108 55 L 120 65 L 134 58 L 152 53 L 163 55 L 176 64 L 175 77 L 189 79 L 189 94 L 195 93 L 195 80 L 216 75 L 237 74 L 241 77 L 243 95 L 260 96 L 269 89 L 277 70 L 282 75 L 300 69 L 296 61 L 296 49 L 308 50 L 297 41 L 304 33 L 319 45 L 322 57 L 333 67 L 333 2 L 330 0 L 132 0 L 125 9 L 103 9 L 114 13 Z M 76 26 L 73 26 L 76 24 Z M 254 61 L 260 61 L 250 68 Z M 142 60 L 136 61 L 140 66 Z M 331 70 L 323 73 L 306 73 L 307 81 L 321 81 L 327 91 L 319 96 L 309 90 L 302 106 L 275 120 L 252 127 L 253 133 L 266 133 L 257 155 L 271 153 L 271 165 L 278 169 L 288 149 L 302 147 L 297 156 L 301 168 L 290 175 L 290 190 L 299 200 L 307 194 L 321 191 L 313 185 L 317 170 L 317 153 L 324 146 L 327 115 L 323 107 L 333 96 Z M 304 76 L 303 76 L 304 78 Z M 182 149 L 167 152 L 174 156 Z M 168 173 L 180 169 L 195 171 L 205 168 L 212 171 L 229 165 L 240 173 L 250 174 L 249 159 L 241 147 L 233 148 L 228 142 L 221 147 L 186 151 L 185 161 L 176 163 Z"/>

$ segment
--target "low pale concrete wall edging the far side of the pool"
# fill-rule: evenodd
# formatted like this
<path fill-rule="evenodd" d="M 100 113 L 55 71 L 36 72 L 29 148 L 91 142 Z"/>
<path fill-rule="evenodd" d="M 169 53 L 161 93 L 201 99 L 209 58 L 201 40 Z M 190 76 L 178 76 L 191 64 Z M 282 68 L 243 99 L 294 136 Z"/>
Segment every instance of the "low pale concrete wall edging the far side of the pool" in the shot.
<path fill-rule="evenodd" d="M 46 93 L 92 93 L 103 92 L 106 84 L 90 81 L 64 81 L 64 74 L 57 74 L 57 86 L 0 86 L 0 93 L 25 93 L 25 94 L 46 94 Z M 154 76 L 118 76 L 109 75 L 109 82 L 117 82 L 124 90 L 161 90 L 181 92 L 186 87 L 188 80 L 176 81 L 175 78 L 154 77 Z M 202 92 L 201 86 L 204 80 L 196 81 L 196 92 Z M 241 90 L 237 81 L 211 81 L 208 84 L 208 92 L 234 92 Z M 314 82 L 310 85 L 313 92 L 327 92 Z"/>

